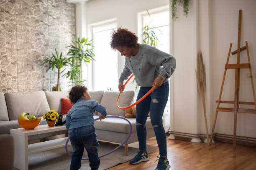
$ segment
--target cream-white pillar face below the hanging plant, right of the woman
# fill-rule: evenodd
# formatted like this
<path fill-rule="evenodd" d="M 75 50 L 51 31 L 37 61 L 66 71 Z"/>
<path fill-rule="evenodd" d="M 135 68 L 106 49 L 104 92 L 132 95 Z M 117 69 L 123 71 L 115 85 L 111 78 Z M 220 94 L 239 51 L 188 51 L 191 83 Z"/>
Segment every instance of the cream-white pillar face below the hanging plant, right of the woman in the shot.
<path fill-rule="evenodd" d="M 191 4 L 191 3 L 190 3 Z M 176 57 L 176 70 L 173 75 L 174 104 L 172 131 L 195 133 L 194 117 L 194 30 L 193 14 L 183 17 L 181 7 L 177 8 L 178 19 L 173 22 L 173 55 Z M 171 33 L 172 34 L 172 33 Z"/>

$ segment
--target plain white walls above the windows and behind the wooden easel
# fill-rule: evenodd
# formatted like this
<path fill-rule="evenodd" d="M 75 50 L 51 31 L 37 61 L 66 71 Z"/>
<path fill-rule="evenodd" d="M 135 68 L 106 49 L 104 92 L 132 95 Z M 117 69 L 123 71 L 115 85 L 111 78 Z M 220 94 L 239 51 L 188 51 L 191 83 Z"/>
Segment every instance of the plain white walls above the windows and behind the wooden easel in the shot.
<path fill-rule="evenodd" d="M 118 27 L 123 26 L 138 33 L 137 14 L 146 9 L 168 5 L 169 0 L 157 0 L 157 2 L 156 0 L 90 0 L 85 3 L 87 25 L 116 18 Z M 191 0 L 187 18 L 183 15 L 182 8 L 178 7 L 178 19 L 170 21 L 170 35 L 173 37 L 170 49 L 177 59 L 171 87 L 174 95 L 171 101 L 172 131 L 205 134 L 202 102 L 197 92 L 195 76 L 197 52 L 201 50 L 206 67 L 206 109 L 208 129 L 211 133 L 217 106 L 215 100 L 218 100 L 230 42 L 233 43 L 232 51 L 237 48 L 240 9 L 242 10 L 241 47 L 247 40 L 254 85 L 256 84 L 255 7 L 255 0 Z M 124 57 L 119 54 L 118 60 L 119 76 L 123 70 Z M 236 56 L 231 55 L 230 63 L 235 62 Z M 246 51 L 241 52 L 241 63 L 244 62 L 247 62 Z M 248 72 L 241 70 L 240 100 L 253 102 Z M 222 100 L 234 100 L 234 75 L 234 70 L 228 70 Z M 133 90 L 134 87 L 128 84 L 126 89 Z M 220 106 L 233 107 L 224 104 Z M 237 135 L 255 138 L 255 122 L 255 114 L 238 113 Z M 233 135 L 233 113 L 219 112 L 215 133 Z"/>

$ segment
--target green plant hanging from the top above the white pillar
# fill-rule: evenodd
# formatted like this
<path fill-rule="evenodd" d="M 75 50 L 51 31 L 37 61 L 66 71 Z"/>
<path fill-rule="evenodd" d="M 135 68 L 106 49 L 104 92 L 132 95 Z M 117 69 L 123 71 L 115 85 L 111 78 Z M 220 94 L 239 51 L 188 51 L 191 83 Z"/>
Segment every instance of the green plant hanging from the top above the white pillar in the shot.
<path fill-rule="evenodd" d="M 189 11 L 189 0 L 170 0 L 171 10 L 172 10 L 172 19 L 176 20 L 177 17 L 177 5 L 182 5 L 184 15 L 188 16 Z"/>

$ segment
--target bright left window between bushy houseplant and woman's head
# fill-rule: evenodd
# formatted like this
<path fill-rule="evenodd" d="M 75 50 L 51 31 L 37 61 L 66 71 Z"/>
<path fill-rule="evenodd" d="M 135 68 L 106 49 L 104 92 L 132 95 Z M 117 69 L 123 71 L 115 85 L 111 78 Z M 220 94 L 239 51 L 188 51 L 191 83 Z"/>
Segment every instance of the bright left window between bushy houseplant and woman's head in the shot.
<path fill-rule="evenodd" d="M 93 61 L 92 87 L 97 90 L 118 91 L 118 54 L 110 47 L 111 32 L 116 23 L 92 27 L 92 42 L 95 61 Z"/>

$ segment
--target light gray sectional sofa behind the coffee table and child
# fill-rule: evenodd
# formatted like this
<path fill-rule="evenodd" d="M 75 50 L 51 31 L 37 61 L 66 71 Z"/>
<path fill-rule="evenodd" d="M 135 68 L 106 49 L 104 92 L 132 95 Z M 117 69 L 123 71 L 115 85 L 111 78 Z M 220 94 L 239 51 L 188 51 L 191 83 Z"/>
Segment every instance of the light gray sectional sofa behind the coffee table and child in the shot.
<path fill-rule="evenodd" d="M 90 92 L 92 100 L 97 100 L 101 105 L 107 108 L 108 115 L 125 115 L 125 110 L 116 107 L 116 98 L 118 92 L 112 91 L 94 91 Z M 125 91 L 120 95 L 119 106 L 125 107 L 133 102 L 134 92 Z M 68 92 L 47 92 L 36 91 L 28 93 L 3 93 L 0 92 L 0 134 L 10 133 L 10 129 L 20 128 L 18 117 L 21 112 L 29 112 L 31 115 L 42 116 L 48 110 L 56 110 L 61 114 L 61 98 L 68 98 Z M 97 112 L 95 118 L 99 117 Z M 128 119 L 133 127 L 131 137 L 125 143 L 125 155 L 127 155 L 128 144 L 138 141 L 136 135 L 136 118 Z M 41 120 L 39 125 L 45 125 L 46 121 Z M 95 121 L 97 139 L 113 143 L 123 143 L 130 132 L 130 125 L 127 121 L 119 118 L 106 118 L 102 121 Z M 150 117 L 146 121 L 147 138 L 154 137 L 154 129 L 151 126 Z M 60 132 L 63 134 L 63 132 Z M 67 133 L 67 132 L 66 132 Z M 28 140 L 46 138 L 57 133 L 49 135 L 32 136 Z"/>

